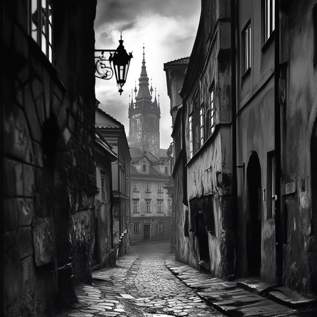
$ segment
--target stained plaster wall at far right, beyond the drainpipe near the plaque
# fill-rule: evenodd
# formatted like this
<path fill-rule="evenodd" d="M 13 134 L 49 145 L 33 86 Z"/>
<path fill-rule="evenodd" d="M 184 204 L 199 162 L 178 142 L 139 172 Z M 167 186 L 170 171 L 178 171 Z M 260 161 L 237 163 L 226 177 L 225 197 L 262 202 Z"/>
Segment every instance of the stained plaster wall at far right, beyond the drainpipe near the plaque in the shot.
<path fill-rule="evenodd" d="M 281 46 L 281 55 L 289 61 L 287 72 L 282 74 L 287 79 L 286 102 L 281 107 L 283 190 L 285 183 L 295 179 L 295 192 L 282 196 L 283 277 L 285 285 L 303 293 L 317 290 L 316 192 L 312 188 L 316 175 L 311 171 L 316 156 L 310 152 L 310 142 L 316 142 L 312 133 L 317 111 L 317 70 L 312 54 L 314 5 L 316 1 L 294 2 L 283 13 L 281 24 L 289 41 Z"/>

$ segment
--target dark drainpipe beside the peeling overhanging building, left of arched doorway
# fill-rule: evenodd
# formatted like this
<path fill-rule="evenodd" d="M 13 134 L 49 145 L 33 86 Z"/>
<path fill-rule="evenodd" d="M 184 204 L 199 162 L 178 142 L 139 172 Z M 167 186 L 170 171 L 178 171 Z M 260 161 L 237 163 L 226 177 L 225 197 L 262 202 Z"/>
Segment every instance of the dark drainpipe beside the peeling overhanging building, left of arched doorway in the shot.
<path fill-rule="evenodd" d="M 230 13 L 230 36 L 231 36 L 231 144 L 232 144 L 232 198 L 233 198 L 233 231 L 236 236 L 235 248 L 237 247 L 238 228 L 237 228 L 237 203 L 238 203 L 238 190 L 237 190 L 237 143 L 236 143 L 236 0 L 231 0 L 231 13 Z M 235 274 L 238 273 L 238 266 L 235 266 Z"/>

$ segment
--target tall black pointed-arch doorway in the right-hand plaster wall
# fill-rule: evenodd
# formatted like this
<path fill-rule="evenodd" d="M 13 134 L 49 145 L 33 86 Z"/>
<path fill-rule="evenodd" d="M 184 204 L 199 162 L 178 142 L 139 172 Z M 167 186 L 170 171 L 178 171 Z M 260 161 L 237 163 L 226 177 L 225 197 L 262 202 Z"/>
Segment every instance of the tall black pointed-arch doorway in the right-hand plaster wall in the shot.
<path fill-rule="evenodd" d="M 261 165 L 255 151 L 247 167 L 246 250 L 248 276 L 260 276 L 261 268 Z"/>

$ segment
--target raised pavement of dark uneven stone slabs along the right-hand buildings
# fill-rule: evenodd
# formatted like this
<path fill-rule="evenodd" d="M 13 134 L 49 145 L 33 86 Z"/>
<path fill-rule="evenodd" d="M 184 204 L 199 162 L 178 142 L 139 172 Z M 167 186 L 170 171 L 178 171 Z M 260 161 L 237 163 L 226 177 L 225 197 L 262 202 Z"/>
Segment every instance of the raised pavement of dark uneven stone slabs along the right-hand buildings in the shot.
<path fill-rule="evenodd" d="M 288 288 L 274 288 L 257 278 L 238 279 L 226 282 L 200 273 L 188 265 L 178 263 L 172 257 L 165 261 L 167 268 L 185 285 L 195 289 L 198 296 L 227 316 L 316 316 L 317 309 L 310 306 L 306 310 L 295 310 L 287 303 L 312 304 L 313 300 L 303 298 Z M 261 295 L 268 294 L 268 298 Z M 272 298 L 280 302 L 271 301 Z M 284 301 L 283 301 L 283 300 Z M 281 305 L 283 304 L 283 305 Z M 290 305 L 288 305 L 290 306 Z"/>

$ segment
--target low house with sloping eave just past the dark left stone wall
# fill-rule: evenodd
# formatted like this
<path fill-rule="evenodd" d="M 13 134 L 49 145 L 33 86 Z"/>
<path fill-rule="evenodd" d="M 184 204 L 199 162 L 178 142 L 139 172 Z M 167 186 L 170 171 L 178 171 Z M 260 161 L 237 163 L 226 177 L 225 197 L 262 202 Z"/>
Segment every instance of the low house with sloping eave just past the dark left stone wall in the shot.
<path fill-rule="evenodd" d="M 93 270 L 116 264 L 116 249 L 113 248 L 113 191 L 111 163 L 118 157 L 112 146 L 98 130 L 95 137 L 96 184 L 95 197 L 95 243 Z"/>

